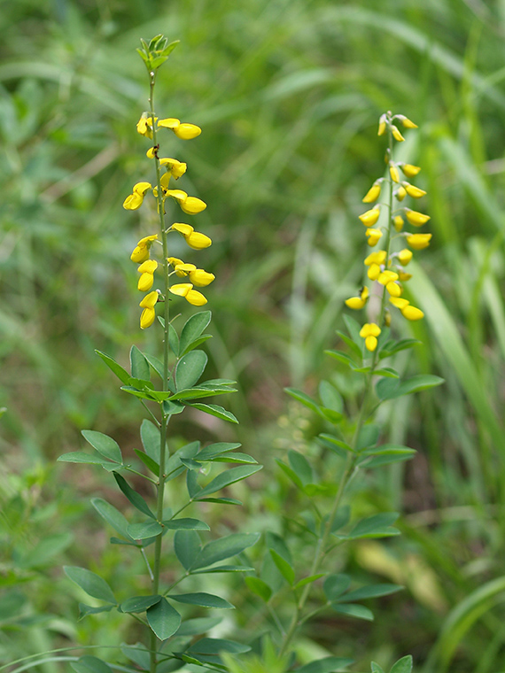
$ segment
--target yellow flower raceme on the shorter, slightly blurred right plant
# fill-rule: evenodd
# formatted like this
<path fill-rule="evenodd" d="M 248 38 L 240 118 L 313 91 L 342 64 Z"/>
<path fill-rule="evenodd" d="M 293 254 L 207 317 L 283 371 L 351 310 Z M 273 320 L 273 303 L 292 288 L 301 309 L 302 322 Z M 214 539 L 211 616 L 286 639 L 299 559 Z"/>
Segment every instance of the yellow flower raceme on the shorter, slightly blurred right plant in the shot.
<path fill-rule="evenodd" d="M 386 301 L 389 305 L 398 308 L 408 321 L 418 321 L 423 318 L 423 312 L 419 308 L 412 306 L 407 299 L 401 297 L 403 294 L 402 283 L 408 282 L 411 278 L 405 267 L 412 259 L 412 251 L 427 248 L 431 241 L 431 234 L 412 233 L 404 231 L 403 227 L 405 220 L 412 227 L 422 227 L 430 220 L 430 216 L 401 204 L 406 197 L 418 199 L 423 197 L 426 192 L 408 182 L 408 180 L 416 177 L 421 168 L 393 159 L 393 139 L 397 142 L 405 140 L 395 122 L 400 123 L 403 128 L 417 128 L 413 121 L 408 120 L 402 114 L 392 115 L 392 112 L 385 112 L 379 120 L 378 135 L 387 133 L 390 141 L 385 157 L 388 170 L 385 177 L 378 178 L 373 183 L 363 198 L 363 203 L 375 203 L 376 205 L 359 216 L 362 224 L 366 227 L 367 243 L 370 247 L 378 246 L 378 249 L 371 251 L 364 260 L 365 267 L 367 267 L 367 276 L 371 281 L 370 286 L 364 286 L 357 297 L 346 299 L 346 306 L 353 309 L 363 308 L 367 304 L 370 294 L 377 294 L 381 299 L 379 324 L 377 322 L 367 322 L 360 331 L 360 336 L 365 340 L 365 346 L 370 352 L 377 348 L 377 336 L 380 335 L 381 328 L 384 325 L 389 325 L 391 320 L 386 308 Z M 385 188 L 389 190 L 389 199 L 385 204 L 381 204 L 378 199 L 381 192 L 384 193 Z M 383 209 L 387 211 L 387 222 L 377 227 Z M 382 246 L 381 242 L 384 242 Z"/>

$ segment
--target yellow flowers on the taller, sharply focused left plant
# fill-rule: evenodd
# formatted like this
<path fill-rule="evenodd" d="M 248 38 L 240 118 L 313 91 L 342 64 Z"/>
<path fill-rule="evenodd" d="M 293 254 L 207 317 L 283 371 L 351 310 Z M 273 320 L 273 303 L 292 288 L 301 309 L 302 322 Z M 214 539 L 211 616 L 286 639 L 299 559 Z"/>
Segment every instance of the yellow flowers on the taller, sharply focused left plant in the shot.
<path fill-rule="evenodd" d="M 182 140 L 191 140 L 196 138 L 201 133 L 201 129 L 189 123 L 181 123 L 180 120 L 169 118 L 159 120 L 154 119 L 149 113 L 144 112 L 141 119 L 136 125 L 136 130 L 140 135 L 146 138 L 152 138 L 152 125 L 156 124 L 157 129 L 169 128 L 174 134 Z M 177 159 L 170 159 L 167 157 L 159 157 L 159 145 L 151 147 L 147 152 L 148 159 L 154 159 L 159 163 L 159 169 L 165 171 L 161 174 L 159 184 L 162 190 L 161 199 L 159 199 L 158 187 L 152 186 L 151 182 L 137 182 L 132 190 L 132 193 L 126 197 L 123 208 L 126 210 L 136 210 L 144 203 L 144 197 L 151 193 L 153 197 L 162 204 L 163 213 L 165 213 L 165 201 L 167 198 L 172 198 L 180 206 L 183 213 L 189 215 L 196 215 L 206 209 L 206 204 L 197 197 L 190 197 L 183 190 L 169 189 L 170 180 L 178 180 L 186 172 L 186 164 Z M 166 229 L 164 235 L 178 233 L 183 236 L 186 244 L 192 250 L 203 250 L 212 244 L 211 239 L 205 234 L 195 231 L 190 224 L 183 222 L 174 222 Z M 151 236 L 144 236 L 136 244 L 135 250 L 131 253 L 130 259 L 138 264 L 137 271 L 140 274 L 138 279 L 138 290 L 147 292 L 151 290 L 154 284 L 154 274 L 160 266 L 158 261 L 151 259 L 151 248 L 154 244 L 161 244 L 158 234 Z M 195 287 L 203 288 L 214 281 L 214 274 L 209 274 L 204 269 L 196 267 L 194 264 L 187 264 L 183 259 L 175 257 L 168 257 L 167 264 L 172 267 L 172 272 L 169 275 L 176 275 L 179 278 L 185 279 L 184 282 L 176 282 L 169 285 L 168 291 L 177 297 L 183 297 L 193 306 L 203 306 L 206 304 L 205 296 L 195 290 Z M 156 318 L 155 306 L 159 301 L 167 301 L 163 297 L 160 290 L 151 290 L 146 294 L 140 302 L 140 307 L 143 310 L 140 316 L 140 327 L 146 329 L 152 325 Z"/>

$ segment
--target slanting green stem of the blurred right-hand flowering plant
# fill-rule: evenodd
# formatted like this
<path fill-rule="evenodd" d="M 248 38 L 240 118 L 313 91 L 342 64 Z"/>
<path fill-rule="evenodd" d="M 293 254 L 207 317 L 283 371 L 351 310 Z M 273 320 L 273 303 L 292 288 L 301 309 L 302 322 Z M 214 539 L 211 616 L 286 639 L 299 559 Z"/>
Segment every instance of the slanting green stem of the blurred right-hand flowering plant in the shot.
<path fill-rule="evenodd" d="M 388 156 L 389 159 L 392 159 L 392 133 L 391 133 L 391 115 L 388 113 L 388 116 L 390 116 L 390 124 L 388 124 L 388 145 L 389 145 L 389 151 L 388 151 Z M 388 173 L 389 173 L 389 164 L 388 164 Z M 391 239 L 392 239 L 392 199 L 393 199 L 393 182 L 392 182 L 392 177 L 391 174 L 388 174 L 388 182 L 389 182 L 389 203 L 387 205 L 388 208 L 388 227 L 387 227 L 387 233 L 385 237 L 385 251 L 386 251 L 386 265 L 387 265 L 387 260 L 389 259 L 389 254 L 390 254 L 390 244 L 391 244 Z M 381 307 L 380 307 L 380 313 L 379 313 L 379 319 L 378 319 L 378 326 L 380 329 L 383 329 L 384 324 L 385 324 L 385 300 L 386 300 L 386 290 L 384 288 L 382 298 L 381 298 Z M 330 552 L 330 549 L 332 549 L 335 545 L 328 545 L 330 541 L 330 536 L 331 536 L 331 531 L 333 530 L 333 524 L 335 522 L 335 517 L 337 516 L 338 512 L 338 507 L 340 506 L 340 503 L 342 501 L 342 498 L 344 496 L 344 493 L 346 492 L 346 487 L 347 484 L 351 481 L 352 477 L 354 476 L 355 471 L 358 469 L 356 467 L 356 461 L 358 460 L 359 454 L 356 451 L 357 445 L 358 445 L 358 439 L 360 437 L 361 433 L 361 428 L 363 427 L 364 423 L 367 421 L 369 418 L 369 413 L 368 413 L 368 407 L 369 407 L 369 395 L 372 390 L 372 379 L 374 375 L 374 371 L 377 367 L 377 350 L 373 352 L 372 355 L 372 361 L 370 365 L 370 370 L 368 374 L 366 375 L 366 383 L 365 383 L 365 390 L 363 392 L 363 397 L 361 399 L 361 406 L 360 406 L 360 412 L 358 414 L 358 419 L 356 421 L 356 428 L 354 429 L 354 438 L 353 438 L 353 453 L 348 453 L 347 459 L 346 459 L 346 468 L 344 469 L 344 472 L 342 476 L 340 477 L 340 483 L 338 483 L 338 491 L 335 496 L 335 500 L 333 501 L 333 505 L 330 510 L 330 514 L 328 516 L 328 519 L 324 525 L 324 529 L 322 530 L 322 535 L 317 541 L 317 545 L 315 546 L 315 554 L 314 558 L 312 561 L 312 566 L 309 572 L 309 575 L 316 575 L 319 569 L 321 569 L 322 566 L 322 561 L 324 561 L 325 556 L 327 553 Z M 305 617 L 302 617 L 302 612 L 303 609 L 307 603 L 307 599 L 310 595 L 310 592 L 312 590 L 313 584 L 307 584 L 304 587 L 303 592 L 300 595 L 299 601 L 296 604 L 294 613 L 291 617 L 291 623 L 288 627 L 288 629 L 285 632 L 283 642 L 279 651 L 279 655 L 282 656 L 283 654 L 286 653 L 286 650 L 288 646 L 291 644 L 291 640 L 293 636 L 296 633 L 296 630 L 299 628 L 299 626 L 307 621 L 307 619 L 315 613 L 310 613 L 310 615 L 306 615 Z M 317 612 L 317 610 L 315 611 Z"/>

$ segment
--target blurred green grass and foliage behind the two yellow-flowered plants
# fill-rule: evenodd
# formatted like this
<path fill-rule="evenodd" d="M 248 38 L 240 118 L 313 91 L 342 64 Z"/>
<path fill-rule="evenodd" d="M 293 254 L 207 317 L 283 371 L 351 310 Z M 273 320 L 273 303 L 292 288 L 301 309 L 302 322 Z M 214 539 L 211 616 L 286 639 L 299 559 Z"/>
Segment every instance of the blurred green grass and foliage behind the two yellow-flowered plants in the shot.
<path fill-rule="evenodd" d="M 359 651 L 358 669 L 412 653 L 426 673 L 505 670 L 505 3 L 22 0 L 3 4 L 0 28 L 0 658 L 126 638 L 101 615 L 74 626 L 64 562 L 117 582 L 136 569 L 91 514 L 88 496 L 105 486 L 53 460 L 82 446 L 83 427 L 127 453 L 139 442 L 135 402 L 94 349 L 126 363 L 129 344 L 151 338 L 128 259 L 138 215 L 121 204 L 150 167 L 135 132 L 147 106 L 135 48 L 164 33 L 181 45 L 160 73 L 159 109 L 204 129 L 184 160 L 214 240 L 207 350 L 241 389 L 229 399 L 239 429 L 194 422 L 201 440 L 238 438 L 266 465 L 235 491 L 241 518 L 224 512 L 216 525 L 282 532 L 298 496 L 273 459 L 320 451 L 321 428 L 283 388 L 310 393 L 328 367 L 322 348 L 361 282 L 356 217 L 382 169 L 377 119 L 402 112 L 420 125 L 401 149 L 423 166 L 434 243 L 410 290 L 426 320 L 397 326 L 424 346 L 397 366 L 447 383 L 386 409 L 392 439 L 418 454 L 355 487 L 358 511 L 399 509 L 403 535 L 357 545 L 346 562 L 406 591 L 374 603 L 375 623 L 315 624 L 304 646 Z M 175 445 L 186 430 L 175 424 Z M 229 591 L 241 609 L 223 632 L 245 637 L 258 607 L 244 584 Z"/>

